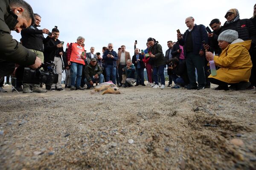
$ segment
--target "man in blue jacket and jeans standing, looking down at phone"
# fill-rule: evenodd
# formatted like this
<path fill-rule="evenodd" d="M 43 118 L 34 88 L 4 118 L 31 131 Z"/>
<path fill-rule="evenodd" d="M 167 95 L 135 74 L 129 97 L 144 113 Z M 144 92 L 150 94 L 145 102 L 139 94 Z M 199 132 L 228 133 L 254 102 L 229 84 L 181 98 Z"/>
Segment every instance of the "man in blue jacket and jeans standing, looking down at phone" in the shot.
<path fill-rule="evenodd" d="M 110 80 L 112 75 L 112 82 L 116 84 L 116 61 L 118 60 L 116 51 L 113 51 L 113 44 L 108 44 L 108 50 L 106 50 L 102 56 L 102 59 L 105 61 L 105 70 L 106 70 L 106 82 Z"/>

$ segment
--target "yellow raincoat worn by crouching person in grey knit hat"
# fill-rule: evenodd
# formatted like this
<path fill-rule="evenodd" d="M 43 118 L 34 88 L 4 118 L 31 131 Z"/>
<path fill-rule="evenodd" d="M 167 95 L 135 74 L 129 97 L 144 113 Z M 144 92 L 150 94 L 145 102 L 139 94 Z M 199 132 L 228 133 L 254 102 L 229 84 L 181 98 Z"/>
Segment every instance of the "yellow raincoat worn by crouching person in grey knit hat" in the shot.
<path fill-rule="evenodd" d="M 221 68 L 217 70 L 216 76 L 210 74 L 209 78 L 227 83 L 248 82 L 253 66 L 248 52 L 250 44 L 251 40 L 237 39 L 228 45 L 219 57 L 214 56 L 215 65 Z"/>

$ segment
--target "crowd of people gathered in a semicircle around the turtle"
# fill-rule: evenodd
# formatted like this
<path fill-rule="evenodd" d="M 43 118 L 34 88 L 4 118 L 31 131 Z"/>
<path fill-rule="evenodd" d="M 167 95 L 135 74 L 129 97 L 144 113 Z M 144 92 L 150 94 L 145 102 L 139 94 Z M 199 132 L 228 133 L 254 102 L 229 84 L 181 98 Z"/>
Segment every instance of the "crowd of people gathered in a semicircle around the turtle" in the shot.
<path fill-rule="evenodd" d="M 15 64 L 30 65 L 36 69 L 43 61 L 54 63 L 55 74 L 58 74 L 58 81 L 46 85 L 46 89 L 39 82 L 12 82 L 15 89 L 23 93 L 63 91 L 63 70 L 66 73 L 65 88 L 70 90 L 90 89 L 104 81 L 112 81 L 123 88 L 146 86 L 144 69 L 148 85 L 163 89 L 166 87 L 166 68 L 169 78 L 167 86 L 171 88 L 201 90 L 210 88 L 211 83 L 218 85 L 215 90 L 255 88 L 256 5 L 250 19 L 240 19 L 239 11 L 235 8 L 226 12 L 224 17 L 227 21 L 223 26 L 219 19 L 213 19 L 209 22 L 213 31 L 195 24 L 193 17 L 187 17 L 185 23 L 188 29 L 184 34 L 177 30 L 177 41 L 167 42 L 165 55 L 162 46 L 149 37 L 145 50 L 136 47 L 137 41 L 134 43 L 133 56 L 125 50 L 125 45 L 114 51 L 113 43 L 103 47 L 102 54 L 94 54 L 94 47 L 87 52 L 82 36 L 77 37 L 76 42 L 67 43 L 64 51 L 64 42 L 58 39 L 58 27 L 55 26 L 52 31 L 38 29 L 41 16 L 34 14 L 25 1 L 5 0 L 0 8 L 3 11 L 0 30 L 4 32 L 0 42 L 6 42 L 1 43 L 6 46 L 0 48 L 0 77 L 14 74 Z M 21 32 L 20 43 L 11 38 L 11 30 Z M 47 37 L 44 38 L 43 34 L 47 34 Z M 215 64 L 217 71 L 214 75 L 210 72 L 209 61 Z M 2 78 L 0 91 L 6 92 L 2 88 L 3 81 Z"/>

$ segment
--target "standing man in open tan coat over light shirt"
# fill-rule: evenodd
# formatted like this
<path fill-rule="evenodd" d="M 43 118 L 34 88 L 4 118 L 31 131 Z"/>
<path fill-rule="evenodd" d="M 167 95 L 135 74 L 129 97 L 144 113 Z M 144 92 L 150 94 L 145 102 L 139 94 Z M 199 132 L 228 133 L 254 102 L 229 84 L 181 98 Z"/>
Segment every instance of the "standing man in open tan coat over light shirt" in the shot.
<path fill-rule="evenodd" d="M 126 67 L 127 65 L 127 60 L 131 59 L 130 53 L 128 51 L 125 51 L 125 45 L 121 46 L 121 51 L 118 52 L 117 54 L 118 60 L 116 61 L 117 63 L 117 68 L 118 68 L 118 74 L 119 74 L 119 82 L 122 82 L 122 69 Z M 118 85 L 119 87 L 122 86 Z"/>

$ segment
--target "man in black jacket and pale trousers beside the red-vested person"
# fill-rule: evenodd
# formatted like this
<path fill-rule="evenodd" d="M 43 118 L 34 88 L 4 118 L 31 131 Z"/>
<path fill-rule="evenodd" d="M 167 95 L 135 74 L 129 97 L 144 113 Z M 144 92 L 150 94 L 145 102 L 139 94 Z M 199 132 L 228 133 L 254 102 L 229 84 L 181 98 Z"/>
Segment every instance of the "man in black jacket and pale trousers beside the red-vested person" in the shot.
<path fill-rule="evenodd" d="M 52 29 L 52 37 L 49 38 L 47 42 L 44 43 L 44 62 L 52 61 L 56 66 L 55 74 L 58 74 L 58 82 L 56 84 L 52 84 L 51 87 L 47 86 L 47 90 L 51 91 L 63 91 L 61 88 L 61 79 L 62 79 L 62 59 L 61 56 L 64 54 L 63 44 L 58 40 L 60 35 L 60 31 L 57 28 Z"/>

